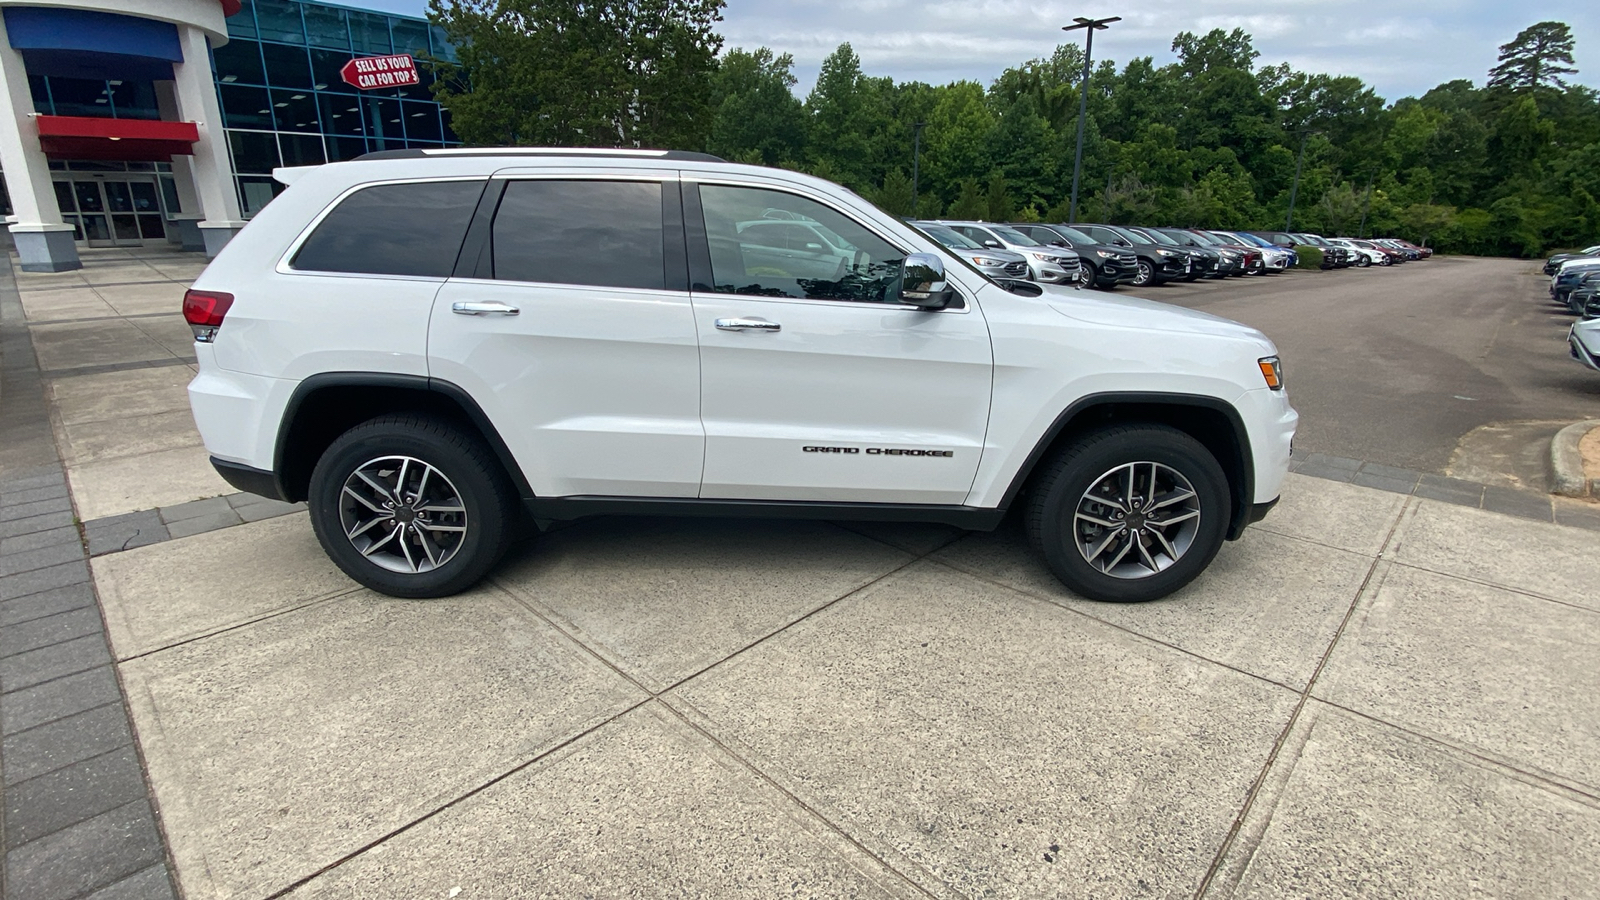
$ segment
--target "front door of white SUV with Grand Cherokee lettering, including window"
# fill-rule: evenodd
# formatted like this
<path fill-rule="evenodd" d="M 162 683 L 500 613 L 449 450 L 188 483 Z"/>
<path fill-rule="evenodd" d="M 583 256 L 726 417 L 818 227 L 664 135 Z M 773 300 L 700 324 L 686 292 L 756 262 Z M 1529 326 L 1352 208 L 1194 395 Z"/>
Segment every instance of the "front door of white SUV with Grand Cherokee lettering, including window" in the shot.
<path fill-rule="evenodd" d="M 707 500 L 962 504 L 989 423 L 989 328 L 968 296 L 896 303 L 906 248 L 819 199 L 685 184 Z M 840 251 L 771 251 L 773 223 Z M 704 232 L 701 232 L 701 226 Z M 792 229 L 787 229 L 792 231 Z"/>

